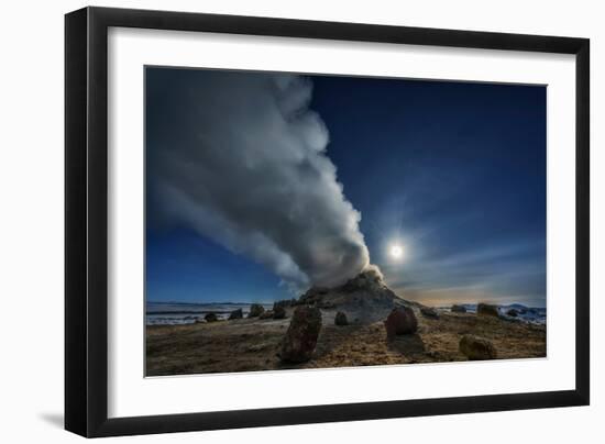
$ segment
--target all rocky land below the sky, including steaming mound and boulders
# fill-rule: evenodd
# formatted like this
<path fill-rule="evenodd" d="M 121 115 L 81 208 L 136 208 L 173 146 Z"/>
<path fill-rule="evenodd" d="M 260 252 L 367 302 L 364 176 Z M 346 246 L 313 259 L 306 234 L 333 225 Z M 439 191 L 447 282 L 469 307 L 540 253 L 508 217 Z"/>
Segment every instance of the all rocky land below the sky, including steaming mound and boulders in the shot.
<path fill-rule="evenodd" d="M 147 325 L 146 375 L 546 357 L 546 325 L 406 301 L 375 270 L 248 318 Z"/>

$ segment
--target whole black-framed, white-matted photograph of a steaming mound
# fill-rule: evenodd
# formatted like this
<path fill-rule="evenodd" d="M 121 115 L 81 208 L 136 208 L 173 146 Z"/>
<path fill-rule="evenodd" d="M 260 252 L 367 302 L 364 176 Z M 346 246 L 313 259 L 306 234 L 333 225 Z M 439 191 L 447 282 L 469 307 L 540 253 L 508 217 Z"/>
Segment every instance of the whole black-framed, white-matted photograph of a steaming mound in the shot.
<path fill-rule="evenodd" d="M 588 40 L 65 30 L 67 430 L 588 404 Z"/>

